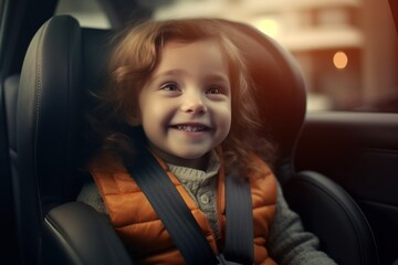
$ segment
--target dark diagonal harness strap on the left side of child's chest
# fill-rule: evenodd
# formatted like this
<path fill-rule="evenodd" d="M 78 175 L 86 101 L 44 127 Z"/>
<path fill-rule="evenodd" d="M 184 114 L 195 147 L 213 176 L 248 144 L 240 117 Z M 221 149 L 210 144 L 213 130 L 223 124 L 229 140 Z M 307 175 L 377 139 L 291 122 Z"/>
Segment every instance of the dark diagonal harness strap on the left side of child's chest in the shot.
<path fill-rule="evenodd" d="M 189 265 L 218 264 L 206 236 L 176 187 L 147 150 L 127 169 Z"/>

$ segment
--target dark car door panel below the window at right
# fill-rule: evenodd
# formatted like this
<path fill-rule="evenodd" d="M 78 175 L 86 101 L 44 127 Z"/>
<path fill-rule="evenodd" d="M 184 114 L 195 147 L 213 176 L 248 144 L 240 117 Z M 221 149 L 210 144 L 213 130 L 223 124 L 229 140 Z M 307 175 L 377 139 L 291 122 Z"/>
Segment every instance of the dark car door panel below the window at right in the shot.
<path fill-rule="evenodd" d="M 398 114 L 310 113 L 294 165 L 348 191 L 368 218 L 381 264 L 398 257 Z"/>

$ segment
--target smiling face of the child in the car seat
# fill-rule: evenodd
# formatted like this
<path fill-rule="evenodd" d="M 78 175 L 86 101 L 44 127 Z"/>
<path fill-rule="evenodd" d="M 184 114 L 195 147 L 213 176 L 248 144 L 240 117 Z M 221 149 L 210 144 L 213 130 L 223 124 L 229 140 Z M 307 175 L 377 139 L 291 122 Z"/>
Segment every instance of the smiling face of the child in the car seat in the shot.
<path fill-rule="evenodd" d="M 228 65 L 214 40 L 169 41 L 139 94 L 140 123 L 166 162 L 203 168 L 231 127 Z"/>

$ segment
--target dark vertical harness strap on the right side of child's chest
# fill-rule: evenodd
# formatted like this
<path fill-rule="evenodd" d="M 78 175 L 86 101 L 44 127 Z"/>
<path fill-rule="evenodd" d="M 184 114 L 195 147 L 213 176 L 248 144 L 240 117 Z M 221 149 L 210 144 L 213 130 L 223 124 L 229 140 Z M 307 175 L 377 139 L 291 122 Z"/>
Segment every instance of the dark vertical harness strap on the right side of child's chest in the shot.
<path fill-rule="evenodd" d="M 227 261 L 253 264 L 253 211 L 249 178 L 232 171 L 226 178 L 226 246 Z"/>

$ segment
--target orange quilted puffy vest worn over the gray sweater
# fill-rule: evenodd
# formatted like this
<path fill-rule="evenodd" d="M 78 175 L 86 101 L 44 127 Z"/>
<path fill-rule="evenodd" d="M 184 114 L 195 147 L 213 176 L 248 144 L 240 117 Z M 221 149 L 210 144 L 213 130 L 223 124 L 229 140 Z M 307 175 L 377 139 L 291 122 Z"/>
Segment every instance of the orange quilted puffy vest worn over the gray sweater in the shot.
<path fill-rule="evenodd" d="M 250 176 L 254 219 L 254 262 L 255 264 L 271 265 L 275 263 L 268 254 L 265 242 L 275 212 L 276 180 L 265 162 L 254 156 L 253 159 L 259 168 Z M 159 159 L 158 161 L 184 198 L 214 254 L 218 254 L 218 245 L 222 245 L 226 232 L 224 172 L 222 167 L 218 176 L 217 190 L 217 206 L 222 239 L 216 239 L 205 214 L 174 173 L 168 170 L 167 165 Z M 145 194 L 117 158 L 109 153 L 97 156 L 92 160 L 90 171 L 104 199 L 113 226 L 136 263 L 185 264 L 181 254 Z"/>

